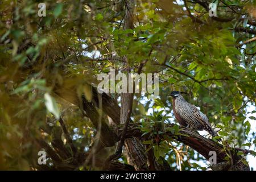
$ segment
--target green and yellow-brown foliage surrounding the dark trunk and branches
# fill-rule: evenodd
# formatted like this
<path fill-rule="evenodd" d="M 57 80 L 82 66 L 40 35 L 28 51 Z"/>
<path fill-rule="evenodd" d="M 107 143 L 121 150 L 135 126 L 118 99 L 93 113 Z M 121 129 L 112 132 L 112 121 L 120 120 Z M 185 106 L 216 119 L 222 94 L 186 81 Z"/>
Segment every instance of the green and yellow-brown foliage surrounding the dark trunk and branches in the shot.
<path fill-rule="evenodd" d="M 159 97 L 150 100 L 147 93 L 135 94 L 132 115 L 152 135 L 146 144 L 154 147 L 157 159 L 163 156 L 173 169 L 205 169 L 197 163 L 205 162 L 203 156 L 182 143 L 168 138 L 154 142 L 155 135 L 164 132 L 163 122 L 174 122 L 171 90 L 189 93 L 186 100 L 200 106 L 230 146 L 254 146 L 255 131 L 246 119 L 250 114 L 246 106 L 255 108 L 256 42 L 237 45 L 255 35 L 235 30 L 255 31 L 255 23 L 247 24 L 255 18 L 250 13 L 255 1 L 219 2 L 237 11 L 241 7 L 236 15 L 218 7 L 218 16 L 234 18 L 221 23 L 199 3 L 187 2 L 192 15 L 204 21 L 196 23 L 183 1 L 139 0 L 134 30 L 123 30 L 122 5 L 114 6 L 110 0 L 44 0 L 45 17 L 38 16 L 40 2 L 0 2 L 0 169 L 35 169 L 42 150 L 36 140 L 52 145 L 51 131 L 60 127 L 59 114 L 78 150 L 87 151 L 96 129 L 73 105 L 75 97 L 85 94 L 90 100 L 86 85 L 97 85 L 97 74 L 110 68 L 121 72 L 123 56 L 131 72 L 146 63 L 143 73 L 160 76 Z M 119 101 L 118 94 L 112 97 Z M 70 150 L 65 142 L 64 147 Z M 51 168 L 51 159 L 47 166 Z"/>

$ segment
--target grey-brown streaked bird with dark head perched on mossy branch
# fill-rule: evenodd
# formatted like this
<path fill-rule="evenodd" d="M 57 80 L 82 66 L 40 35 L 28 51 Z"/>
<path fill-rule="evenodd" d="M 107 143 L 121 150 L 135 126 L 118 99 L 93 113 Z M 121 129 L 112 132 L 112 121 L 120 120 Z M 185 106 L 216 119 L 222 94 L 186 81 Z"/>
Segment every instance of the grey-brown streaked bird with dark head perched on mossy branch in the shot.
<path fill-rule="evenodd" d="M 193 130 L 206 130 L 213 137 L 218 136 L 209 123 L 207 115 L 202 113 L 196 106 L 187 102 L 179 91 L 172 91 L 169 96 L 173 97 L 172 109 L 174 116 L 181 126 Z M 219 139 L 218 139 L 219 140 Z"/>

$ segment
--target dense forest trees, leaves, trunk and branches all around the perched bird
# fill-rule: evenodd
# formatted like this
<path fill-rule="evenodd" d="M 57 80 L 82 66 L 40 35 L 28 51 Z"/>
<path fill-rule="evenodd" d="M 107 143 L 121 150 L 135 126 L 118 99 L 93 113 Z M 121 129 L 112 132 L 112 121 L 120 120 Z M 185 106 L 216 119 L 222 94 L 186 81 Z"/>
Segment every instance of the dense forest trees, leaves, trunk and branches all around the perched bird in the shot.
<path fill-rule="evenodd" d="M 0 169 L 250 169 L 255 36 L 255 0 L 1 0 Z M 110 69 L 158 73 L 159 96 L 98 93 Z M 179 126 L 172 90 L 219 136 Z"/>

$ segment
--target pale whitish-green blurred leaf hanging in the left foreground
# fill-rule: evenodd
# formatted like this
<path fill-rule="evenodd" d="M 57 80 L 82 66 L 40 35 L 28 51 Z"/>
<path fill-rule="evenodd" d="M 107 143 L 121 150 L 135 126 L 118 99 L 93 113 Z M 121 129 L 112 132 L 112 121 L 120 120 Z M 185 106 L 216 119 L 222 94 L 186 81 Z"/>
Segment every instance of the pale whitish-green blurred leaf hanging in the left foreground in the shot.
<path fill-rule="evenodd" d="M 53 97 L 50 96 L 50 94 L 45 93 L 44 94 L 44 104 L 46 105 L 47 110 L 52 113 L 56 119 L 60 119 L 60 110 L 57 106 L 57 103 Z"/>

